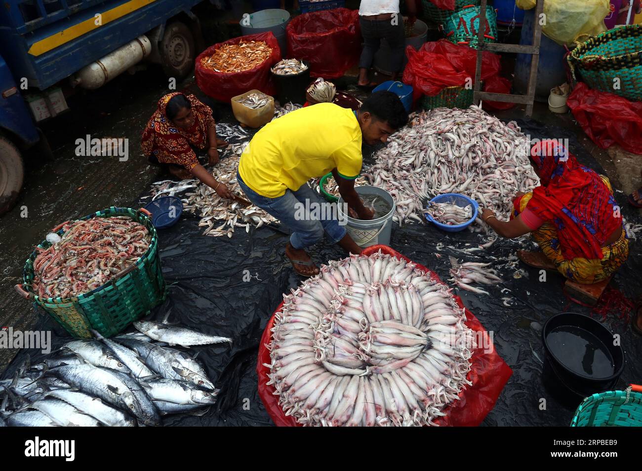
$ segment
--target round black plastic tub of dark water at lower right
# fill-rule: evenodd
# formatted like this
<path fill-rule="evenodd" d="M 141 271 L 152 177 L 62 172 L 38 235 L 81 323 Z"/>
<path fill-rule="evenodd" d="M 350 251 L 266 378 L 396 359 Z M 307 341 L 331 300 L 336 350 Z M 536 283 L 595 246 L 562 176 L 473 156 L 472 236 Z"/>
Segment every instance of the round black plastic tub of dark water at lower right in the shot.
<path fill-rule="evenodd" d="M 581 397 L 611 390 L 625 365 L 611 331 L 580 313 L 550 317 L 542 329 L 546 359 L 560 383 Z"/>

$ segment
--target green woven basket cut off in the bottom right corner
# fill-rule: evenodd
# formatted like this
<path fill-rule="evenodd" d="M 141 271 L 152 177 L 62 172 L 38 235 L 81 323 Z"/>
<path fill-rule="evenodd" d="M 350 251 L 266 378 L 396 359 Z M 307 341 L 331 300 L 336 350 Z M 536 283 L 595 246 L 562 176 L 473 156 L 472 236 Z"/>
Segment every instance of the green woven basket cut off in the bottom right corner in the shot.
<path fill-rule="evenodd" d="M 634 388 L 638 392 L 634 391 Z M 593 394 L 575 411 L 571 427 L 642 427 L 642 387 Z"/>

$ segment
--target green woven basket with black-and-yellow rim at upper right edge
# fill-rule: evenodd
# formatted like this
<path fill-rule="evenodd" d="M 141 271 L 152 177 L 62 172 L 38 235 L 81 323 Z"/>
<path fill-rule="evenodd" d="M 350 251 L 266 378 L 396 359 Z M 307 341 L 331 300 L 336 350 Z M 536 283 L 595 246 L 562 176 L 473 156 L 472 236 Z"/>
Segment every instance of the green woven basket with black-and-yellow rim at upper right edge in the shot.
<path fill-rule="evenodd" d="M 642 24 L 618 26 L 592 37 L 567 60 L 574 82 L 583 80 L 600 92 L 642 101 Z M 614 79 L 619 79 L 619 90 Z"/>

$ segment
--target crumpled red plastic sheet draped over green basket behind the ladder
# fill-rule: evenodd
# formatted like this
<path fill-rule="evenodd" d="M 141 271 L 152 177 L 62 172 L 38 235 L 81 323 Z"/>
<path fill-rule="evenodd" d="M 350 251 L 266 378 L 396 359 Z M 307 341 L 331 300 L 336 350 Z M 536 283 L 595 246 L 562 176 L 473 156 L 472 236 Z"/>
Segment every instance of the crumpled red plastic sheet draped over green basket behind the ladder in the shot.
<path fill-rule="evenodd" d="M 403 72 L 403 81 L 412 85 L 413 97 L 434 96 L 446 87 L 464 87 L 475 77 L 477 51 L 467 45 L 453 44 L 446 39 L 427 42 L 415 51 L 406 47 L 408 65 Z M 483 51 L 482 80 L 499 74 L 501 64 L 497 54 Z M 467 79 L 470 79 L 467 82 Z"/>

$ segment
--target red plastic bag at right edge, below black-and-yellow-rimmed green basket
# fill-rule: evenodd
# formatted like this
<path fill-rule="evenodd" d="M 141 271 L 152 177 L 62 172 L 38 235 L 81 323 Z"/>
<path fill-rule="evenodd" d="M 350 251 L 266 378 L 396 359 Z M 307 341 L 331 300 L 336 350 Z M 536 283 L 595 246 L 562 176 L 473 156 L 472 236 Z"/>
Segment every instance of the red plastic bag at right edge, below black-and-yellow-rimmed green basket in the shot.
<path fill-rule="evenodd" d="M 642 154 L 642 101 L 629 101 L 580 82 L 566 101 L 584 132 L 602 149 L 620 144 Z"/>

